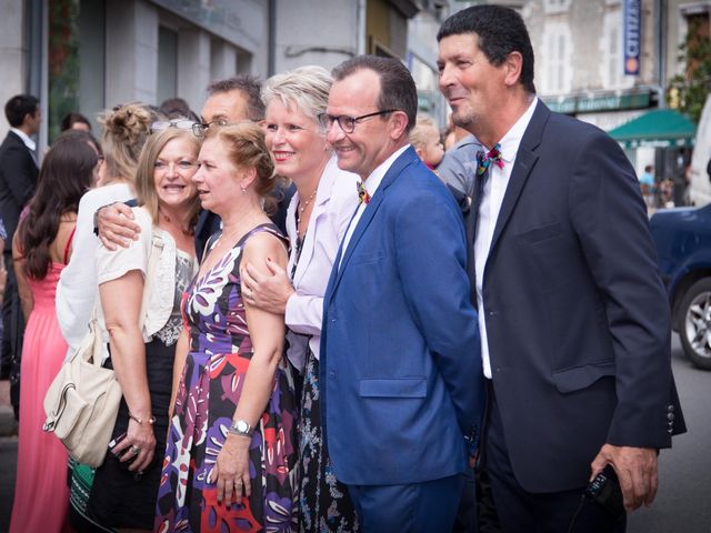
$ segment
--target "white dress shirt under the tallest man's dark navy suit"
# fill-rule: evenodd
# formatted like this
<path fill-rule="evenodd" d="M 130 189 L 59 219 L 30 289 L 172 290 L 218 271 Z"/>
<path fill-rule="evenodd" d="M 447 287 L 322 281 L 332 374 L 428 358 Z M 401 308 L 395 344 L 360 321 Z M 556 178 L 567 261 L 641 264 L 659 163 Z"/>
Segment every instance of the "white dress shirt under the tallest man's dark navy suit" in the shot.
<path fill-rule="evenodd" d="M 481 335 L 481 360 L 484 375 L 491 379 L 491 360 L 489 358 L 489 341 L 487 339 L 487 322 L 484 320 L 484 301 L 482 295 L 484 269 L 489 259 L 489 249 L 493 239 L 493 230 L 497 227 L 503 197 L 511 179 L 511 171 L 515 162 L 515 154 L 519 151 L 523 133 L 533 117 L 538 99 L 534 98 L 529 109 L 513 124 L 505 135 L 499 141 L 500 152 L 503 160 L 503 168 L 500 169 L 493 162 L 489 179 L 484 182 L 479 205 L 479 222 L 477 223 L 477 238 L 474 239 L 474 265 L 477 270 L 477 312 L 479 313 L 479 333 Z M 490 150 L 493 147 L 484 148 Z"/>

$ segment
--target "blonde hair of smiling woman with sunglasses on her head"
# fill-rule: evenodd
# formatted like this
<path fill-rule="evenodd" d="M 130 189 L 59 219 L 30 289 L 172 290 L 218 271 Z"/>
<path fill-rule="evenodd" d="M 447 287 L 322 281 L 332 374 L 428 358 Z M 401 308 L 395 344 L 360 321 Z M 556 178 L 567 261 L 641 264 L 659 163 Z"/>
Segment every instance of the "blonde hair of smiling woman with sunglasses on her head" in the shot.
<path fill-rule="evenodd" d="M 139 205 L 143 205 L 150 213 L 153 224 L 158 224 L 158 191 L 156 190 L 156 161 L 166 145 L 176 139 L 184 139 L 194 149 L 194 159 L 200 151 L 200 141 L 188 130 L 179 128 L 167 128 L 153 133 L 141 150 L 141 154 L 136 168 L 136 199 Z M 200 212 L 200 198 L 196 192 L 190 204 L 188 215 L 188 230 L 193 230 Z"/>

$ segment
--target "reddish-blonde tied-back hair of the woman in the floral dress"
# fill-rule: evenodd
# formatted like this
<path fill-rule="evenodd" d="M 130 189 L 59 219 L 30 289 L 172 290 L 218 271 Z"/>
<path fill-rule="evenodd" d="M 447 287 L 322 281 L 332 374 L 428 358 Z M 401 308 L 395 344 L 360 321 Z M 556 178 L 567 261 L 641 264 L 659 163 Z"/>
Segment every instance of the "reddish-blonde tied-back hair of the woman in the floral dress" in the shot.
<path fill-rule="evenodd" d="M 221 128 L 208 128 L 204 140 L 218 139 L 224 143 L 227 157 L 238 169 L 254 169 L 254 192 L 264 200 L 264 211 L 272 213 L 277 201 L 269 194 L 277 185 L 274 163 L 271 160 L 264 131 L 253 122 L 239 122 Z"/>

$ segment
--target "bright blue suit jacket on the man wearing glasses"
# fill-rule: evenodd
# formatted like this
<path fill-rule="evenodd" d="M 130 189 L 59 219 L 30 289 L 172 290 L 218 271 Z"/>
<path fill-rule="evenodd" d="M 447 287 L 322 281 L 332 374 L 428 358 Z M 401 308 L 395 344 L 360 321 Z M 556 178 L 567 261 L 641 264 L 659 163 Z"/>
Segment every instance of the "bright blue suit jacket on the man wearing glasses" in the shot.
<path fill-rule="evenodd" d="M 340 481 L 464 469 L 464 434 L 478 435 L 484 403 L 465 261 L 459 209 L 409 148 L 339 251 L 324 296 L 321 418 Z"/>

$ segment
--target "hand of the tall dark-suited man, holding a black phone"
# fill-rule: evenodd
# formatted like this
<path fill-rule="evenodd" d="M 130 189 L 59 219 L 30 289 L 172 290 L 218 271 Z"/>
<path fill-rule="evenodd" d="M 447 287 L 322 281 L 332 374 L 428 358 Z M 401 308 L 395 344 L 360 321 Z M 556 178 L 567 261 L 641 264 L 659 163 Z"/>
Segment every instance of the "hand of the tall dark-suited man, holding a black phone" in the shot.
<path fill-rule="evenodd" d="M 644 504 L 648 507 L 657 495 L 657 450 L 652 447 L 613 446 L 604 444 L 590 465 L 590 480 L 611 464 L 620 480 L 624 509 L 634 511 Z"/>

